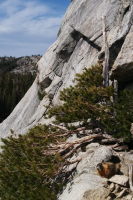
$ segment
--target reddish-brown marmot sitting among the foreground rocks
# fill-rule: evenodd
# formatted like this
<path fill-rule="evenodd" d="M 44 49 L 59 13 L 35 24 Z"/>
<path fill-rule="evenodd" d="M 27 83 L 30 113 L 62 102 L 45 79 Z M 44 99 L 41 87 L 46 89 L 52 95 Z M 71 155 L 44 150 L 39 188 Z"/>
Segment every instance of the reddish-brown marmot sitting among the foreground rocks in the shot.
<path fill-rule="evenodd" d="M 100 176 L 110 178 L 113 175 L 120 173 L 121 164 L 113 162 L 102 162 L 99 163 L 96 168 Z"/>

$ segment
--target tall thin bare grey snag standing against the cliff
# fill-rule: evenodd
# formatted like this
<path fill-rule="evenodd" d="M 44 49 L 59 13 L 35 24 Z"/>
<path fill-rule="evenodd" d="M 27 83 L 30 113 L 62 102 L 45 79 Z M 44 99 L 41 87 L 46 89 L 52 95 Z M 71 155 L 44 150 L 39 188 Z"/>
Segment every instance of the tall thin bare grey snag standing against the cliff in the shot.
<path fill-rule="evenodd" d="M 109 45 L 106 32 L 106 17 L 102 17 L 103 21 L 103 50 L 105 52 L 105 59 L 103 63 L 103 86 L 109 86 Z"/>

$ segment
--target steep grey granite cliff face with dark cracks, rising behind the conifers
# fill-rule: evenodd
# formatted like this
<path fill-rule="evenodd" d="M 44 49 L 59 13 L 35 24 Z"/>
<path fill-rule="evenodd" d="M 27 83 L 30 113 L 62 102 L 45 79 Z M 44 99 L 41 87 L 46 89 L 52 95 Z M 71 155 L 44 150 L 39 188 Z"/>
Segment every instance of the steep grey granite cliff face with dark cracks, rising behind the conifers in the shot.
<path fill-rule="evenodd" d="M 38 75 L 32 87 L 11 115 L 0 125 L 2 137 L 13 129 L 25 133 L 44 120 L 46 107 L 59 103 L 59 92 L 73 84 L 76 73 L 95 64 L 102 53 L 102 20 L 110 46 L 112 77 L 129 84 L 133 73 L 132 0 L 74 0 L 62 21 L 58 38 L 38 62 Z M 40 100 L 38 91 L 47 93 Z"/>

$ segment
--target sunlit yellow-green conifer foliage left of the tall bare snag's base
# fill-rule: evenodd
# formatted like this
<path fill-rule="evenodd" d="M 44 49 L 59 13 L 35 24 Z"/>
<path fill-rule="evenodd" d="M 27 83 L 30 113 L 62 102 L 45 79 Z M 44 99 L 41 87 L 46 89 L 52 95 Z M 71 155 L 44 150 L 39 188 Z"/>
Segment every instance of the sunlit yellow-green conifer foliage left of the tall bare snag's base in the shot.
<path fill-rule="evenodd" d="M 97 126 L 102 115 L 106 115 L 110 108 L 110 98 L 113 95 L 112 87 L 103 87 L 102 66 L 95 65 L 77 74 L 76 85 L 70 86 L 61 92 L 61 106 L 52 107 L 49 116 L 56 116 L 57 122 L 71 123 L 76 121 L 87 122 Z M 108 104 L 108 105 L 107 105 Z"/>

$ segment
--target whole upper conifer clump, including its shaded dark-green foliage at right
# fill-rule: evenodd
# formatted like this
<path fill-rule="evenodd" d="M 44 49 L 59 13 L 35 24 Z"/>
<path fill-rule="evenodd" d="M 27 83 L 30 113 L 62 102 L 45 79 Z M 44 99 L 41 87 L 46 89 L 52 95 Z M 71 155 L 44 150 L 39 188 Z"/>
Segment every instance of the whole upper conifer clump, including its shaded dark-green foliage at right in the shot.
<path fill-rule="evenodd" d="M 90 128 L 101 128 L 115 137 L 130 140 L 133 91 L 120 91 L 118 102 L 112 102 L 113 87 L 103 87 L 102 66 L 99 64 L 77 74 L 75 81 L 75 86 L 61 92 L 60 100 L 64 103 L 52 107 L 49 117 L 55 116 L 57 123 L 66 125 L 83 121 Z"/>

